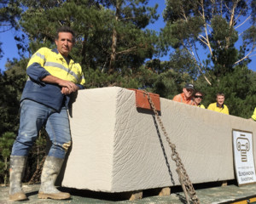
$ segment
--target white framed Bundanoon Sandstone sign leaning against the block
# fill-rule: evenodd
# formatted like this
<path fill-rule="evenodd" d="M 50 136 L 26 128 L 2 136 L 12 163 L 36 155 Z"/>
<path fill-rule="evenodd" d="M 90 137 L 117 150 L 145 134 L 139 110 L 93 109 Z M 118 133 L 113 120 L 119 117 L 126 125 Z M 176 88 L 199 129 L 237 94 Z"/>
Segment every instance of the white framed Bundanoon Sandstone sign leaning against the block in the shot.
<path fill-rule="evenodd" d="M 252 133 L 233 130 L 233 150 L 238 184 L 256 182 Z"/>

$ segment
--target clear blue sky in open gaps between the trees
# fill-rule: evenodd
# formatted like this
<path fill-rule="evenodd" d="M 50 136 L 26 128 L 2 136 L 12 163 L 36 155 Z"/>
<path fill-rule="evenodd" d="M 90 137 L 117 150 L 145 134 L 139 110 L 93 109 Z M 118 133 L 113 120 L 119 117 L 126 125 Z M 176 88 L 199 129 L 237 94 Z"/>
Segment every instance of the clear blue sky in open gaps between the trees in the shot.
<path fill-rule="evenodd" d="M 149 5 L 154 5 L 155 3 L 159 4 L 158 7 L 158 13 L 160 14 L 160 18 L 158 21 L 154 23 L 154 25 L 149 25 L 148 29 L 154 29 L 155 31 L 160 31 L 160 28 L 163 28 L 165 26 L 165 22 L 162 17 L 162 12 L 166 8 L 165 0 L 150 0 Z M 244 29 L 241 27 L 241 29 Z M 2 48 L 3 48 L 3 58 L 0 59 L 0 70 L 4 71 L 4 65 L 7 62 L 7 59 L 13 59 L 17 58 L 19 59 L 18 49 L 15 44 L 15 31 L 7 31 L 7 32 L 1 32 L 0 33 L 0 42 L 3 42 Z M 203 50 L 201 50 L 201 55 L 206 55 Z M 166 55 L 162 60 L 168 60 L 169 56 Z M 252 62 L 248 65 L 249 69 L 256 71 L 256 56 L 253 56 Z"/>

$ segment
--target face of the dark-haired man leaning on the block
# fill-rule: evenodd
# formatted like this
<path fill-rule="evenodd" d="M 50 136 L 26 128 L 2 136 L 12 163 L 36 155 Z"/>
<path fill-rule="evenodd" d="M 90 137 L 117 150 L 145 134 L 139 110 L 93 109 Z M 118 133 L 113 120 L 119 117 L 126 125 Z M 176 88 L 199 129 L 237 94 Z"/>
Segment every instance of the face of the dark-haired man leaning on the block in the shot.
<path fill-rule="evenodd" d="M 59 32 L 59 38 L 55 40 L 60 54 L 67 57 L 73 48 L 73 35 L 70 32 Z"/>

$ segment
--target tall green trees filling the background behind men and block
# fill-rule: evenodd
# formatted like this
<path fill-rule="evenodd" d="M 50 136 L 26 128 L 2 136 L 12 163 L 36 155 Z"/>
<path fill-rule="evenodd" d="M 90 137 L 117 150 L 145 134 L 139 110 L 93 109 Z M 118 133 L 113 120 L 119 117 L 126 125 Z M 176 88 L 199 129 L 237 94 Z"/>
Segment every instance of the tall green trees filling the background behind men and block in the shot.
<path fill-rule="evenodd" d="M 223 92 L 230 115 L 252 116 L 256 73 L 248 65 L 256 55 L 256 0 L 166 0 L 160 31 L 147 28 L 160 17 L 158 4 L 148 2 L 0 0 L 0 31 L 17 31 L 20 54 L 0 72 L 0 183 L 9 179 L 27 62 L 38 48 L 55 48 L 60 26 L 70 26 L 77 34 L 71 55 L 82 65 L 86 88 L 143 88 L 172 99 L 192 82 L 205 94 L 205 106 Z M 3 51 L 0 47 L 0 58 Z M 166 54 L 169 59 L 161 60 Z M 42 129 L 24 181 L 40 167 L 46 139 Z"/>

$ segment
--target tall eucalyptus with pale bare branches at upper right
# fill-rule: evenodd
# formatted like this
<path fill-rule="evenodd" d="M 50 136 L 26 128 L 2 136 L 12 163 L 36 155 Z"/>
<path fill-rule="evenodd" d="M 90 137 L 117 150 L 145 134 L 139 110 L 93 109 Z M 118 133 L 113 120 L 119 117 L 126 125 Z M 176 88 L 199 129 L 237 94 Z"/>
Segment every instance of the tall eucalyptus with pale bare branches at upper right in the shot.
<path fill-rule="evenodd" d="M 212 84 L 214 77 L 234 71 L 236 65 L 247 65 L 255 55 L 255 15 L 254 0 L 166 0 L 161 37 L 166 48 L 189 53 Z M 237 49 L 239 39 L 242 44 Z M 199 53 L 201 49 L 204 52 Z"/>

